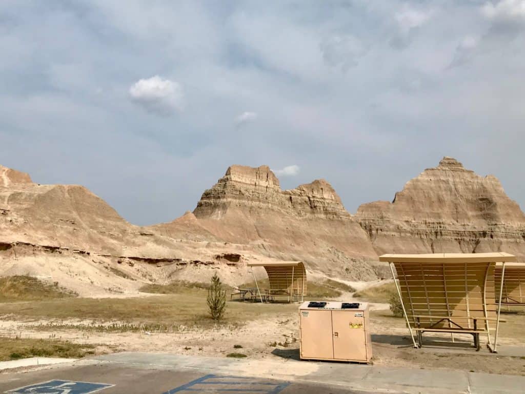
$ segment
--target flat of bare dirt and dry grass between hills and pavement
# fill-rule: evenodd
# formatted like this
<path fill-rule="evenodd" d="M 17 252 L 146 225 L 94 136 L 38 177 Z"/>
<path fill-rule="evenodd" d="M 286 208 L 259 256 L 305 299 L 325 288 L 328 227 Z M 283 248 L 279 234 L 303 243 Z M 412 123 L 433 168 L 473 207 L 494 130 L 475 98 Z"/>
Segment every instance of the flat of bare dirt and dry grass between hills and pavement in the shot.
<path fill-rule="evenodd" d="M 234 300 L 228 302 L 225 322 L 214 324 L 205 316 L 203 296 L 205 292 L 193 289 L 182 295 L 111 299 L 109 304 L 98 299 L 96 308 L 90 299 L 78 298 L 40 302 L 40 307 L 34 302 L 4 303 L 0 304 L 0 336 L 68 340 L 94 345 L 96 354 L 149 351 L 226 357 L 240 353 L 261 361 L 299 357 L 297 304 Z M 351 294 L 338 298 L 352 300 Z M 476 352 L 468 348 L 468 336 L 456 337 L 456 341 L 465 340 L 459 352 L 443 351 L 443 347 L 413 349 L 404 320 L 393 317 L 387 307 L 384 303 L 372 304 L 375 365 L 525 375 L 524 357 Z M 107 308 L 112 309 L 106 315 L 100 313 Z M 505 319 L 499 344 L 525 347 L 525 314 L 506 315 Z"/>

